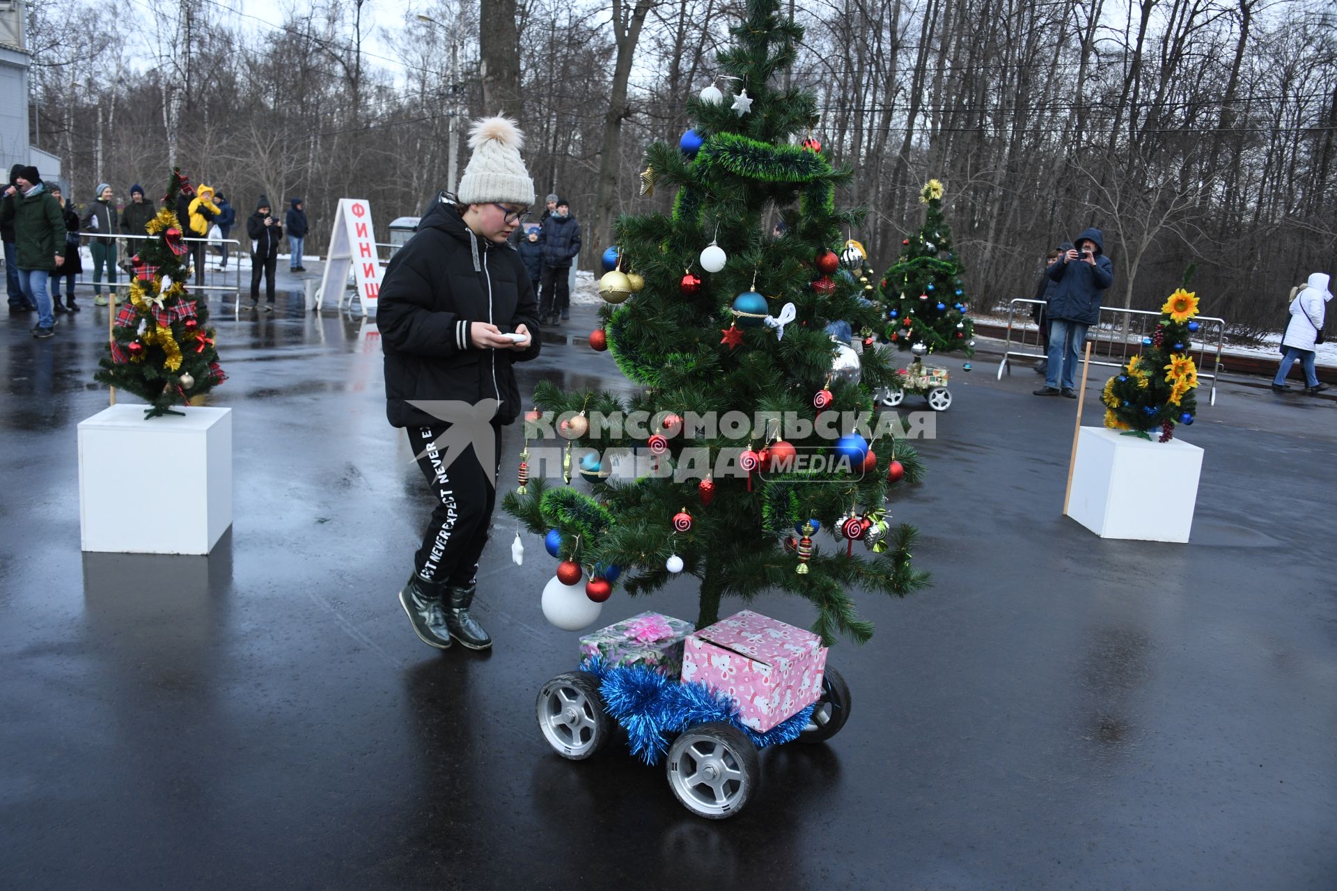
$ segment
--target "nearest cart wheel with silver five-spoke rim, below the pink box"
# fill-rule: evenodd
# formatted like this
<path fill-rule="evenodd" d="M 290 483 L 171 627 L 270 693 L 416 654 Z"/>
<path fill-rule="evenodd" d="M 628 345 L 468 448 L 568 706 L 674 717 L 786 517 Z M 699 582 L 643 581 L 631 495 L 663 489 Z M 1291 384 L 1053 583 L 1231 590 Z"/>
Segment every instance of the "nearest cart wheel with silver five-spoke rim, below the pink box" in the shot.
<path fill-rule="evenodd" d="M 697 752 L 703 751 L 705 757 Z M 705 779 L 693 783 L 691 776 L 722 769 L 715 779 L 722 788 L 714 788 Z M 687 773 L 695 771 L 695 773 Z M 711 721 L 682 732 L 668 747 L 664 759 L 668 788 L 685 808 L 707 820 L 723 820 L 742 811 L 757 795 L 761 785 L 761 757 L 747 735 L 733 724 Z M 707 795 L 703 788 L 710 788 Z M 721 799 L 723 796 L 723 799 Z M 711 800 L 713 799 L 713 800 Z"/>

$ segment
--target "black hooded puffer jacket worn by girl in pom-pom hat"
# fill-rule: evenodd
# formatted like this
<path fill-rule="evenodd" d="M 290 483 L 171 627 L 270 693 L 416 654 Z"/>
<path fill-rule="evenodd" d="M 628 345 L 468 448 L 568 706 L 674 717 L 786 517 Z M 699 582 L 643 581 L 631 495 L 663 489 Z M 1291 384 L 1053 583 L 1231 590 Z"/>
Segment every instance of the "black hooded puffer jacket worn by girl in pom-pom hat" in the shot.
<path fill-rule="evenodd" d="M 500 399 L 495 421 L 520 414 L 512 362 L 539 354 L 539 306 L 520 255 L 475 235 L 460 211 L 436 203 L 417 234 L 390 259 L 381 282 L 376 323 L 385 351 L 385 414 L 396 427 L 439 425 L 412 401 Z M 472 322 L 511 333 L 524 325 L 529 347 L 480 350 Z"/>

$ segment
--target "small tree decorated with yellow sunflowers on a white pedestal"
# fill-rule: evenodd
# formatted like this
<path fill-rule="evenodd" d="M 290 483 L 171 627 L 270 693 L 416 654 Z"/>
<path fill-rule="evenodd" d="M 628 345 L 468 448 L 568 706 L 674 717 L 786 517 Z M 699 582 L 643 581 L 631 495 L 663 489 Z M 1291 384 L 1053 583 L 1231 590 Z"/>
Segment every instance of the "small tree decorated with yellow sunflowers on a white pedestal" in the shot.
<path fill-rule="evenodd" d="M 1198 401 L 1198 366 L 1194 365 L 1191 335 L 1198 330 L 1198 297 L 1177 290 L 1161 307 L 1161 321 L 1151 337 L 1143 338 L 1142 354 L 1128 359 L 1116 377 L 1104 382 L 1100 394 L 1106 405 L 1104 426 L 1126 430 L 1124 435 L 1150 439 L 1161 429 L 1161 442 L 1174 438 L 1174 425 L 1193 423 Z"/>

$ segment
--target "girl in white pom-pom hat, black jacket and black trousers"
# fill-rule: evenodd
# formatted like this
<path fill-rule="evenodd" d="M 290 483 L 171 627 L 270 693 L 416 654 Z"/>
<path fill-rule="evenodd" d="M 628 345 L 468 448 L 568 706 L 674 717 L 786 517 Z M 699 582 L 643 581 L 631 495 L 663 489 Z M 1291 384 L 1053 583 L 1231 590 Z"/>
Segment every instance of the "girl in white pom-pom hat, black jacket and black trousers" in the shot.
<path fill-rule="evenodd" d="M 452 637 L 492 645 L 469 606 L 496 504 L 500 427 L 520 413 L 511 363 L 539 354 L 533 287 L 507 244 L 533 204 L 523 143 L 505 118 L 473 126 L 457 203 L 443 194 L 422 216 L 377 302 L 386 415 L 406 427 L 436 501 L 400 605 L 437 649 Z"/>

